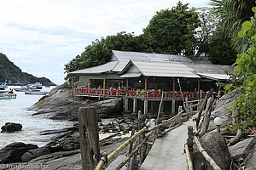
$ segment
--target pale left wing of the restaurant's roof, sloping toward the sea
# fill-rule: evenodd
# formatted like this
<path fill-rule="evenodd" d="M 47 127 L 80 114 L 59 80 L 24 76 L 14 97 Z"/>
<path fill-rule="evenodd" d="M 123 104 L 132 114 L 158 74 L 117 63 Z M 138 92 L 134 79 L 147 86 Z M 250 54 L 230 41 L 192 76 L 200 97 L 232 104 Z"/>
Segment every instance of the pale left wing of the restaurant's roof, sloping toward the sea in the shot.
<path fill-rule="evenodd" d="M 119 61 L 111 61 L 108 62 L 104 65 L 98 65 L 98 66 L 93 66 L 93 67 L 89 67 L 83 70 L 79 70 L 79 71 L 73 71 L 70 72 L 70 74 L 76 75 L 76 74 L 100 74 L 103 72 L 107 72 L 107 71 L 112 71 L 113 67 L 115 65 L 118 64 Z"/>

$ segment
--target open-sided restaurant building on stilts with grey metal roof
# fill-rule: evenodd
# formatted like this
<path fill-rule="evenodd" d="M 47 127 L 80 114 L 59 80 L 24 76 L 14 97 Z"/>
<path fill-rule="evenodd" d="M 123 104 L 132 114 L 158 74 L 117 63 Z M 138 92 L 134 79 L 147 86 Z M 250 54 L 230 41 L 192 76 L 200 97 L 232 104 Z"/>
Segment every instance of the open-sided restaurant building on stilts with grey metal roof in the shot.
<path fill-rule="evenodd" d="M 163 100 L 162 111 L 174 114 L 184 99 L 202 99 L 218 91 L 216 82 L 229 77 L 231 65 L 212 65 L 205 58 L 189 59 L 172 54 L 112 51 L 108 63 L 69 73 L 85 86 L 73 87 L 74 96 L 98 99 L 122 98 L 124 111 L 145 114 Z M 168 104 L 168 105 L 167 105 Z"/>

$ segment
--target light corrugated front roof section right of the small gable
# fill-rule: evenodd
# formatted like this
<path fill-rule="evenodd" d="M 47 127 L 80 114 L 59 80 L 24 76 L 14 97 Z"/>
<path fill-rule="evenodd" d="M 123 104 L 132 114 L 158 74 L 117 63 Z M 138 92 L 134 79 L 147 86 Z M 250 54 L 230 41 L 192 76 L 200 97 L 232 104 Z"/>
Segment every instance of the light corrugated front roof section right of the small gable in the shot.
<path fill-rule="evenodd" d="M 201 78 L 182 63 L 131 60 L 145 77 L 189 77 Z"/>

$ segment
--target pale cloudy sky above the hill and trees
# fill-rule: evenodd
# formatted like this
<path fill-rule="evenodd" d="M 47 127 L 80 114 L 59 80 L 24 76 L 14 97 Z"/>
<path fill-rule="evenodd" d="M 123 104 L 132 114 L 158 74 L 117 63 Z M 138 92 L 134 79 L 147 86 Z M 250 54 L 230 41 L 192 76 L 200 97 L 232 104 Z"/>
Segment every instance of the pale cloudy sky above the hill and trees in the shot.
<path fill-rule="evenodd" d="M 209 0 L 182 0 L 205 7 Z M 0 0 L 0 53 L 36 77 L 64 82 L 64 64 L 96 38 L 139 35 L 173 0 Z"/>

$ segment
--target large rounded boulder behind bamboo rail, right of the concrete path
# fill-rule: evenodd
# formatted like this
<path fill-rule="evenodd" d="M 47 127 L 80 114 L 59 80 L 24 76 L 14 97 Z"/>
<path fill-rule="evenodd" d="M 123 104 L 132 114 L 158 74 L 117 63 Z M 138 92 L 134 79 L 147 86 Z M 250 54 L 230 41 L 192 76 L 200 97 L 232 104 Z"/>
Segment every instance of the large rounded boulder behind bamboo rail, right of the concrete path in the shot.
<path fill-rule="evenodd" d="M 202 147 L 209 152 L 209 155 L 217 163 L 221 169 L 230 169 L 230 153 L 225 143 L 224 138 L 216 132 L 206 133 L 200 139 Z M 193 163 L 195 169 L 200 169 L 202 163 L 201 153 L 197 150 L 194 145 Z M 207 161 L 206 161 L 207 162 Z M 211 165 L 207 162 L 207 169 L 212 169 Z"/>

